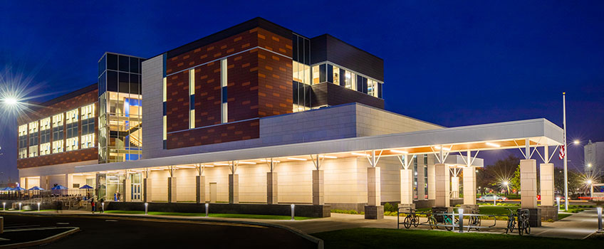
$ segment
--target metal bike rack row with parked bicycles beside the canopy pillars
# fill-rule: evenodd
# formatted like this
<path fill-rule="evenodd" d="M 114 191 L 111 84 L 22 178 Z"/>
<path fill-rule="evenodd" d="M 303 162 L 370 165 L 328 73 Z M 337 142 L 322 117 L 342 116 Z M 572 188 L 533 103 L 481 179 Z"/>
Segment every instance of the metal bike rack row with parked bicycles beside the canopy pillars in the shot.
<path fill-rule="evenodd" d="M 432 213 L 432 212 L 416 212 L 416 211 L 410 211 L 410 212 L 401 212 L 400 211 L 401 208 L 398 209 L 397 211 L 397 229 L 400 229 L 400 225 L 403 224 L 405 225 L 405 222 L 400 222 L 400 215 L 401 214 L 405 214 L 405 216 L 407 215 L 412 215 L 415 214 L 417 215 L 425 215 L 428 218 L 428 221 L 423 222 L 423 223 L 418 223 L 417 226 L 436 226 L 436 227 L 452 227 L 452 231 L 455 231 L 457 228 L 457 231 L 459 231 L 459 233 L 462 233 L 464 230 L 469 231 L 472 228 L 495 228 L 495 226 L 497 225 L 497 218 L 498 217 L 503 217 L 503 218 L 508 218 L 509 219 L 509 215 L 508 216 L 499 216 L 499 215 L 491 215 L 491 214 L 479 214 L 479 213 Z M 518 211 L 516 211 L 516 219 L 519 218 L 519 216 L 526 214 L 526 218 L 529 218 L 529 211 L 527 209 L 524 208 L 519 208 Z M 430 224 L 430 218 L 429 216 L 451 216 L 452 219 L 452 225 L 447 225 L 444 223 L 434 223 L 434 224 Z M 464 218 L 465 217 L 472 217 L 472 216 L 477 216 L 477 217 L 489 217 L 489 218 L 493 218 L 493 225 L 491 226 L 473 226 L 470 224 L 464 224 Z M 457 218 L 457 221 L 455 221 L 455 219 Z M 455 221 L 455 222 L 453 222 Z M 483 220 L 481 219 L 481 221 L 491 221 L 491 220 Z M 412 224 L 412 226 L 415 226 L 415 224 Z M 501 229 L 508 229 L 506 228 L 501 228 Z"/>

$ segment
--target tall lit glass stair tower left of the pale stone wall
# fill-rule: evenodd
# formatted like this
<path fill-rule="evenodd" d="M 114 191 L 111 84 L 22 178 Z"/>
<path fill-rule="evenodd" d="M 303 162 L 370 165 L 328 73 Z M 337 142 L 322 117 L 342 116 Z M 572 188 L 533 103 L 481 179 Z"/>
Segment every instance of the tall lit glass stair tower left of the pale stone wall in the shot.
<path fill-rule="evenodd" d="M 142 154 L 143 60 L 114 53 L 99 60 L 99 163 L 137 160 Z"/>

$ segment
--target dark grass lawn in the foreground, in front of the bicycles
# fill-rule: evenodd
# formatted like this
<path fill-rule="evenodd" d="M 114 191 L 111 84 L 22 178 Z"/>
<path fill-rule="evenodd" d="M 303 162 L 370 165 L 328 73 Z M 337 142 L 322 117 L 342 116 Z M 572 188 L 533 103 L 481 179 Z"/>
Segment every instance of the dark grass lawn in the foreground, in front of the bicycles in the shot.
<path fill-rule="evenodd" d="M 600 247 L 602 240 L 568 240 L 490 233 L 353 228 L 311 234 L 323 239 L 325 248 L 580 248 Z"/>

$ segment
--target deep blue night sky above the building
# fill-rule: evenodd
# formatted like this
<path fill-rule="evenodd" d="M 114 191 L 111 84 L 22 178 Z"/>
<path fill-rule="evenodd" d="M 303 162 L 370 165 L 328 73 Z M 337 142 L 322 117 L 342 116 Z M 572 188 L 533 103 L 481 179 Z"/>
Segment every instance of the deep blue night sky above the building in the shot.
<path fill-rule="evenodd" d="M 383 58 L 387 110 L 447 127 L 561 126 L 567 92 L 569 139 L 604 141 L 604 1 L 128 2 L 1 0 L 0 73 L 31 77 L 45 101 L 95 83 L 105 51 L 150 57 L 261 16 Z M 17 128 L 0 120 L 0 179 L 14 179 Z M 582 164 L 582 147 L 569 147 Z"/>

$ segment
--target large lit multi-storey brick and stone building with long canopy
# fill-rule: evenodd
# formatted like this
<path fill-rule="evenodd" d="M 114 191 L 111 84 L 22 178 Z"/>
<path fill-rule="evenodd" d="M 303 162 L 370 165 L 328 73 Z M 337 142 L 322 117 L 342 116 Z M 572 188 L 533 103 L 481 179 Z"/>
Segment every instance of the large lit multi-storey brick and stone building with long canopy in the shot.
<path fill-rule="evenodd" d="M 295 203 L 308 216 L 380 218 L 385 202 L 476 208 L 478 151 L 562 141 L 543 119 L 447 128 L 383 110 L 381 58 L 263 18 L 151 58 L 105 53 L 98 71 L 97 84 L 21 118 L 23 186 L 88 184 L 112 208 L 288 213 Z"/>

